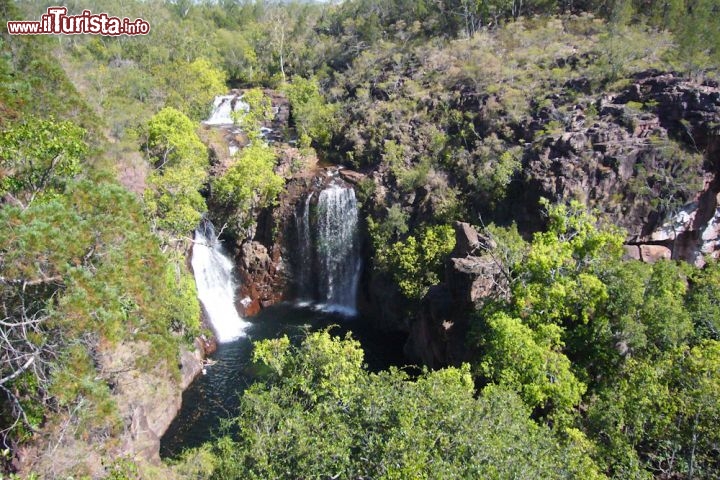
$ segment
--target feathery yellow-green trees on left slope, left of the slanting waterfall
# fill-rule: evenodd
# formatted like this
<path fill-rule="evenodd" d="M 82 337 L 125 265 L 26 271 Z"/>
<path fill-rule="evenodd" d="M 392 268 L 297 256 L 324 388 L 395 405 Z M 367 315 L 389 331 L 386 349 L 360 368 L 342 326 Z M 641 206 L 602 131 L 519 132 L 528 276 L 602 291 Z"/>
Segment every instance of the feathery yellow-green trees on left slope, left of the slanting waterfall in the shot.
<path fill-rule="evenodd" d="M 0 244 L 3 328 L 9 327 L 2 376 L 21 374 L 9 380 L 12 388 L 3 388 L 9 398 L 4 420 L 12 425 L 14 413 L 16 426 L 32 431 L 38 425 L 27 412 L 80 402 L 87 431 L 116 431 L 120 421 L 109 388 L 95 370 L 101 339 L 148 341 L 155 362 L 173 371 L 177 339 L 169 332 L 173 325 L 198 331 L 197 301 L 183 309 L 174 304 L 177 287 L 164 275 L 167 259 L 140 205 L 117 185 L 73 183 L 47 202 L 5 206 L 0 217 L 8 226 Z M 32 368 L 23 370 L 30 356 Z"/>

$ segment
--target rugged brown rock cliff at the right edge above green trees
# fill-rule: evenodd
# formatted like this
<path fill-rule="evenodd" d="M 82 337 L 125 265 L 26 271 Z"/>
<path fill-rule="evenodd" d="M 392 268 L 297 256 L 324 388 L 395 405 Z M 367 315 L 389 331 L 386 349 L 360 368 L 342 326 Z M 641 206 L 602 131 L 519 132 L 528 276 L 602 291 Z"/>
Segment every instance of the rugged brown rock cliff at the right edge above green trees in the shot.
<path fill-rule="evenodd" d="M 628 232 L 632 258 L 670 257 L 701 264 L 718 256 L 720 89 L 649 72 L 615 96 L 564 116 L 563 130 L 526 149 L 523 185 L 510 199 L 533 212 L 540 196 L 575 198 L 600 209 Z M 539 132 L 542 112 L 531 124 Z M 692 155 L 695 160 L 685 165 Z M 519 192 L 519 193 L 518 193 Z M 524 207 L 523 207 L 524 205 Z M 528 210 L 528 208 L 530 210 Z M 522 223 L 522 218 L 519 219 Z M 661 248 L 662 247 L 662 248 Z"/>

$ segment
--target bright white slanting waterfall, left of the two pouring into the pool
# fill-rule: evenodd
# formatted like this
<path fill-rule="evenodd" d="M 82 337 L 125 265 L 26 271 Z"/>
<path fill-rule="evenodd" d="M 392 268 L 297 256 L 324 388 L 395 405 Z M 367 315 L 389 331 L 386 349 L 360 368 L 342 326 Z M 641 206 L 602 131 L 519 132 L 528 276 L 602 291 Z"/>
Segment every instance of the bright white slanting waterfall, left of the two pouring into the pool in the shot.
<path fill-rule="evenodd" d="M 192 252 L 198 298 L 205 307 L 218 342 L 230 342 L 244 335 L 244 322 L 235 308 L 233 262 L 215 238 L 212 223 L 203 222 L 195 231 Z"/>

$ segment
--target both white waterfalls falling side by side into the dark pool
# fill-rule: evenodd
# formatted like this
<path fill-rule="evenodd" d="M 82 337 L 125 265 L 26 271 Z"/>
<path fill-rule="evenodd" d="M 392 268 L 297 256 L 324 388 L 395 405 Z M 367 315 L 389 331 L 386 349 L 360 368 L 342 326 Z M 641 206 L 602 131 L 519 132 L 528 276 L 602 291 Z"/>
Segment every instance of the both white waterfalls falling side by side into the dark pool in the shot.
<path fill-rule="evenodd" d="M 297 300 L 316 304 L 322 310 L 355 315 L 361 267 L 355 191 L 331 185 L 317 195 L 310 193 L 296 206 L 295 232 L 297 241 L 291 250 Z M 192 267 L 198 298 L 218 341 L 244 336 L 248 323 L 235 306 L 233 260 L 209 221 L 203 221 L 195 231 Z"/>

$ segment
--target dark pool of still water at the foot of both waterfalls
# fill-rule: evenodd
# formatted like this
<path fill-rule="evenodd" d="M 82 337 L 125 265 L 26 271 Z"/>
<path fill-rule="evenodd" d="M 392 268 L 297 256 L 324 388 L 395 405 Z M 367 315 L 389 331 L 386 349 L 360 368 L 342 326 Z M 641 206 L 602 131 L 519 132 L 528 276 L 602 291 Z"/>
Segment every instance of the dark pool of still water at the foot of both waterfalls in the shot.
<path fill-rule="evenodd" d="M 161 439 L 160 455 L 177 456 L 183 449 L 200 446 L 218 433 L 220 422 L 235 415 L 242 392 L 256 379 L 251 361 L 252 342 L 288 335 L 299 341 L 307 331 L 337 325 L 332 333 L 351 331 L 365 352 L 371 371 L 403 366 L 405 338 L 373 331 L 361 317 L 345 317 L 311 307 L 290 304 L 264 309 L 249 320 L 246 336 L 218 345 L 210 356 L 216 363 L 183 393 L 182 408 Z"/>

